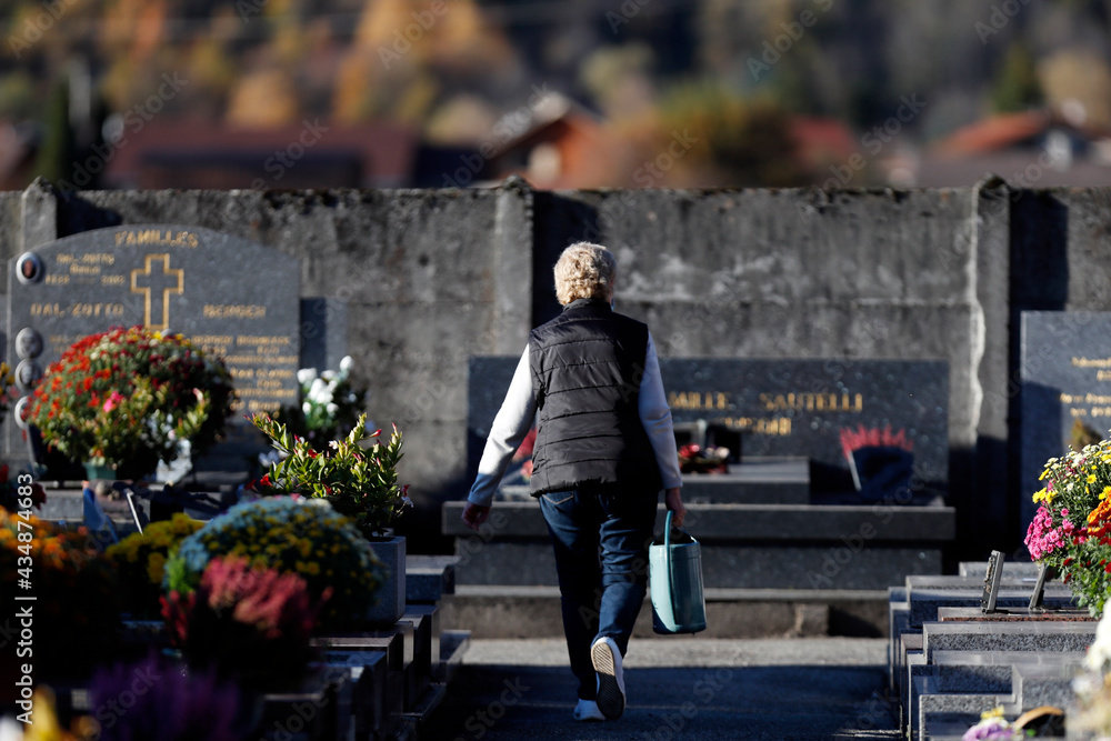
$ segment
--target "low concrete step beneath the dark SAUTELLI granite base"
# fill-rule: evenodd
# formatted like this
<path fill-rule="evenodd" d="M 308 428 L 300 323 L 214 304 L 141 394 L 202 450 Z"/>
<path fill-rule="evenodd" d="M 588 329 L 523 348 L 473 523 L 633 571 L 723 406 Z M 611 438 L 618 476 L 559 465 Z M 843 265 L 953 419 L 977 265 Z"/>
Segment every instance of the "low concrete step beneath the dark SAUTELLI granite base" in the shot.
<path fill-rule="evenodd" d="M 882 637 L 885 598 L 881 590 L 708 589 L 707 630 L 699 637 Z M 467 628 L 474 638 L 563 637 L 557 587 L 460 584 L 440 607 L 443 628 Z M 652 630 L 650 599 L 633 634 L 660 638 Z"/>

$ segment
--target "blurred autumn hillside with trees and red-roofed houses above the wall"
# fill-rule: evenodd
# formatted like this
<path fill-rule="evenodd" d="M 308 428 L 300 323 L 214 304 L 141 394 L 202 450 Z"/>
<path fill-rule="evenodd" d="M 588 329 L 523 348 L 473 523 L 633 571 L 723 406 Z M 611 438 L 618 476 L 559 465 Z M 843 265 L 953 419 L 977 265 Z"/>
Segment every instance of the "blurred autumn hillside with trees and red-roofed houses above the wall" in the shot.
<path fill-rule="evenodd" d="M 4 189 L 1111 174 L 1108 0 L 4 4 Z"/>

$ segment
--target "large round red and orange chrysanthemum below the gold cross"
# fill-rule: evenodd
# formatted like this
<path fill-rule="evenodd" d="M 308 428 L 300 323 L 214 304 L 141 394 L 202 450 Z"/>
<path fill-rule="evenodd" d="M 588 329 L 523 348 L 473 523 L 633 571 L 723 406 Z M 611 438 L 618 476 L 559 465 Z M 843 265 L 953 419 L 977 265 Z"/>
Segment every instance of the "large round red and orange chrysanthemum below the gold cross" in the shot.
<path fill-rule="evenodd" d="M 48 447 L 141 478 L 188 448 L 211 445 L 234 400 L 231 374 L 181 334 L 116 328 L 73 343 L 47 368 L 28 423 Z"/>

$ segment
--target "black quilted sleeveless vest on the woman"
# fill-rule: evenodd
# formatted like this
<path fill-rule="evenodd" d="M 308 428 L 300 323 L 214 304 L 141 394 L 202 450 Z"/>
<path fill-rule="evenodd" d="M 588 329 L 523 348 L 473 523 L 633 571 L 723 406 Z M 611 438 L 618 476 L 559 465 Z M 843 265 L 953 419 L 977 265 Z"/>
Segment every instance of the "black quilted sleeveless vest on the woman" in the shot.
<path fill-rule="evenodd" d="M 648 327 L 595 299 L 572 301 L 532 330 L 533 497 L 590 483 L 662 488 L 637 409 L 647 350 Z"/>

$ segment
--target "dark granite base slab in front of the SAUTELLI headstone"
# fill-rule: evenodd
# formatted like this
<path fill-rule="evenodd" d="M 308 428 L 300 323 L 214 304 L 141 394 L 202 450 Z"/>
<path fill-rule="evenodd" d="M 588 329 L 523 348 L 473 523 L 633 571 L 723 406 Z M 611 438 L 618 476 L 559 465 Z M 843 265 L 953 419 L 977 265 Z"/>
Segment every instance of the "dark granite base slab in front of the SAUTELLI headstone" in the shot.
<path fill-rule="evenodd" d="M 442 508 L 456 535 L 460 584 L 556 584 L 548 528 L 536 502 L 499 502 L 478 533 Z M 691 504 L 684 530 L 702 544 L 705 587 L 887 589 L 908 574 L 939 573 L 952 539 L 945 507 Z M 659 507 L 657 532 L 665 511 Z"/>

